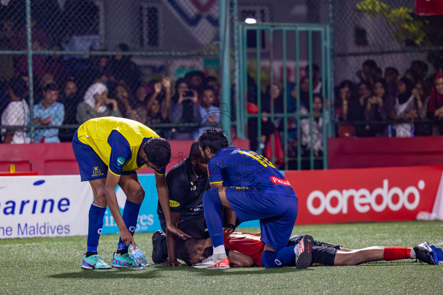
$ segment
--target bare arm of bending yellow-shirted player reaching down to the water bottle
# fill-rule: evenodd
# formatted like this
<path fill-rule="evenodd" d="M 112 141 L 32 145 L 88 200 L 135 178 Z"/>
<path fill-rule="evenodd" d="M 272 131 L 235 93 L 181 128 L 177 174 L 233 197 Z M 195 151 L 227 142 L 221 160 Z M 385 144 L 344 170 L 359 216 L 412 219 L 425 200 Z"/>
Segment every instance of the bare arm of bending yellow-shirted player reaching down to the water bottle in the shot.
<path fill-rule="evenodd" d="M 106 203 L 108 203 L 109 210 L 111 211 L 112 217 L 114 218 L 115 223 L 118 226 L 118 230 L 120 231 L 120 238 L 124 242 L 125 245 L 129 245 L 129 242 L 132 242 L 134 249 L 136 249 L 136 243 L 132 234 L 126 228 L 124 224 L 123 218 L 120 214 L 120 209 L 118 208 L 117 196 L 115 195 L 115 188 L 117 187 L 118 182 L 120 181 L 120 176 L 114 175 L 110 169 L 108 169 L 108 174 L 106 175 L 106 183 L 105 183 L 105 197 Z"/>

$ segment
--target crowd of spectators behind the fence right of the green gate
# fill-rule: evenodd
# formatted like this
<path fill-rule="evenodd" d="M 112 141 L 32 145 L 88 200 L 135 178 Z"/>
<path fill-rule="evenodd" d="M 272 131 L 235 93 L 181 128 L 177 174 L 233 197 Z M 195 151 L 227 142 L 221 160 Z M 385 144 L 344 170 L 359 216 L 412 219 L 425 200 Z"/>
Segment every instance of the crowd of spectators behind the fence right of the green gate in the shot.
<path fill-rule="evenodd" d="M 363 63 L 358 83 L 336 88 L 334 117 L 338 136 L 413 137 L 443 135 L 443 73 L 428 73 L 424 61 L 413 61 L 400 76 L 383 71 L 373 60 Z"/>

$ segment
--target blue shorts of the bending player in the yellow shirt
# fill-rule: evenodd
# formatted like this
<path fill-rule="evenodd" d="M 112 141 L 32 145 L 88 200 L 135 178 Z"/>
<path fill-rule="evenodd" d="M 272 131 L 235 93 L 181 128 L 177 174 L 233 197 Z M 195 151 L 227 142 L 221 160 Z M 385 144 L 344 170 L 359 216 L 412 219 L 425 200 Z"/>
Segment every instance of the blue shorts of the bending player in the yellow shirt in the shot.
<path fill-rule="evenodd" d="M 78 139 L 77 130 L 72 138 L 72 149 L 75 159 L 78 162 L 78 169 L 82 181 L 96 180 L 106 178 L 108 174 L 108 165 L 105 164 L 92 147 L 81 142 Z M 123 171 L 121 175 L 137 174 L 136 171 Z"/>

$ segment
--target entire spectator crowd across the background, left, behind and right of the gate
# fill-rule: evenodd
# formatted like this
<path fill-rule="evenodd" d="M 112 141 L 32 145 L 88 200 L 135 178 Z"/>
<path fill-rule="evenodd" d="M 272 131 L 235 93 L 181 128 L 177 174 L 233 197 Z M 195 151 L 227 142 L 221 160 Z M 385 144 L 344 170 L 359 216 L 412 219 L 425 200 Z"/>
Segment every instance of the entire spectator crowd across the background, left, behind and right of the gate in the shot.
<path fill-rule="evenodd" d="M 36 5 L 34 9 L 42 7 L 40 4 L 43 2 L 33 2 Z M 50 22 L 52 26 L 69 28 L 67 35 L 48 27 L 44 13 L 40 17 L 31 15 L 32 49 L 99 50 L 100 35 L 91 22 L 97 16 L 97 8 L 92 1 L 80 2 L 66 0 L 65 11 L 72 12 L 72 15 L 65 15 L 65 23 L 59 26 L 55 21 L 57 11 L 47 9 L 46 15 L 54 16 Z M 11 3 L 19 1 L 11 0 Z M 56 1 L 53 7 L 58 7 Z M 8 13 L 5 9 L 9 9 Z M 0 6 L 0 15 L 3 16 L 0 20 L 0 50 L 27 48 L 23 11 L 19 16 L 20 13 L 10 13 L 14 9 L 12 4 Z M 80 10 L 87 13 L 74 15 L 73 11 Z M 20 127 L 29 125 L 31 119 L 35 125 L 35 142 L 71 141 L 75 126 L 104 116 L 122 117 L 154 126 L 157 133 L 167 139 L 196 139 L 207 126 L 220 125 L 220 85 L 216 77 L 192 71 L 176 81 L 168 77 L 144 80 L 140 68 L 128 54 L 130 48 L 127 44 L 121 43 L 113 51 L 117 54 L 33 55 L 32 109 L 29 109 L 27 56 L 0 55 L 0 142 L 31 142 L 29 130 Z M 295 116 L 288 117 L 288 156 L 297 156 L 297 140 L 300 138 L 300 154 L 308 158 L 312 149 L 316 167 L 321 166 L 323 157 L 325 120 L 331 119 L 336 123 L 334 127 L 339 137 L 443 135 L 442 68 L 437 65 L 436 73 L 430 73 L 424 61 L 413 61 L 400 76 L 394 67 L 381 69 L 375 61 L 367 60 L 356 73 L 357 83 L 344 80 L 335 88 L 334 104 L 331 105 L 330 100 L 321 95 L 320 70 L 313 64 L 311 71 L 308 67 L 304 69 L 305 73 L 311 72 L 312 77 L 301 77 L 299 85 L 288 82 L 288 89 L 284 90 L 279 81 L 274 81 L 264 92 L 260 89 L 262 114 L 258 118 L 249 117 L 247 121 L 250 149 L 270 157 L 271 146 L 274 146 L 275 157 L 283 158 L 285 121 L 281 116 L 272 121 L 270 113 L 284 113 L 285 102 L 289 115 L 307 115 L 312 107 L 312 122 L 307 116 L 302 116 L 299 128 Z M 249 75 L 247 89 L 241 91 L 245 90 L 246 111 L 257 114 L 256 81 Z M 236 106 L 235 99 L 232 96 L 233 108 Z M 324 116 L 326 106 L 332 111 Z M 235 118 L 236 110 L 230 111 Z M 328 118 L 328 114 L 332 118 Z M 259 123 L 261 134 L 257 132 Z M 71 126 L 59 127 L 62 125 Z M 297 130 L 300 131 L 299 136 Z M 291 163 L 290 168 L 294 168 L 291 167 L 294 161 Z"/>

